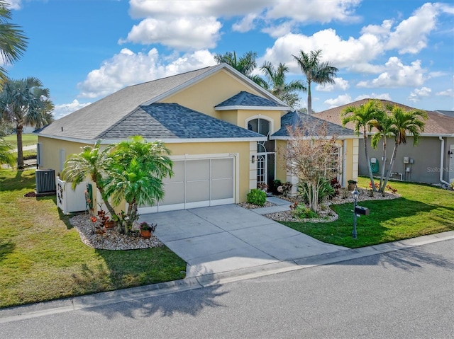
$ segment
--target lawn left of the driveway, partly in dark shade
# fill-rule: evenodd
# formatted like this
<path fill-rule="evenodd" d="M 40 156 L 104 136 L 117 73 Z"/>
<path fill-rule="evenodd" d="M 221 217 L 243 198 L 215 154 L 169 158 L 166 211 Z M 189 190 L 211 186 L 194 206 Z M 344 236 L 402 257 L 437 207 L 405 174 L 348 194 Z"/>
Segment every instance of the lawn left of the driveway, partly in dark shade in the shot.
<path fill-rule="evenodd" d="M 34 170 L 0 170 L 0 308 L 184 278 L 186 263 L 165 246 L 89 248 L 55 196 L 23 196 L 32 190 Z"/>

